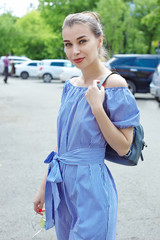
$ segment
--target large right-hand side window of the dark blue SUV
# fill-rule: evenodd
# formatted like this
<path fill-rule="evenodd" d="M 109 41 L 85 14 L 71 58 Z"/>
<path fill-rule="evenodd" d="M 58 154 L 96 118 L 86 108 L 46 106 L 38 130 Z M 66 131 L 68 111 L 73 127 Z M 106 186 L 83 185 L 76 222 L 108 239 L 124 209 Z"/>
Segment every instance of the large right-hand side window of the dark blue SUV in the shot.
<path fill-rule="evenodd" d="M 158 60 L 157 59 L 147 59 L 147 58 L 137 58 L 134 61 L 134 66 L 135 67 L 148 67 L 148 68 L 156 68 L 158 64 Z"/>

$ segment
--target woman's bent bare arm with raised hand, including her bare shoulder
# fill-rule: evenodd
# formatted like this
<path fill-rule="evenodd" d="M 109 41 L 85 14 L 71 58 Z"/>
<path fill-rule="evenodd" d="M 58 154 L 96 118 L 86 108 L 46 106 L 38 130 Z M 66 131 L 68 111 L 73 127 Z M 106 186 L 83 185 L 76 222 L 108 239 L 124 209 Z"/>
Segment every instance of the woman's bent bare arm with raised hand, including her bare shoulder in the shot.
<path fill-rule="evenodd" d="M 113 76 L 113 75 L 112 75 Z M 118 76 L 119 77 L 119 76 Z M 113 86 L 114 85 L 114 86 Z M 116 81 L 110 81 L 108 87 L 126 87 L 126 82 L 123 78 Z M 91 106 L 93 115 L 95 116 L 100 130 L 106 139 L 107 143 L 120 155 L 128 153 L 133 139 L 133 127 L 127 129 L 118 129 L 109 119 L 103 108 L 104 87 L 99 90 L 97 81 L 94 81 L 86 92 L 86 99 Z"/>

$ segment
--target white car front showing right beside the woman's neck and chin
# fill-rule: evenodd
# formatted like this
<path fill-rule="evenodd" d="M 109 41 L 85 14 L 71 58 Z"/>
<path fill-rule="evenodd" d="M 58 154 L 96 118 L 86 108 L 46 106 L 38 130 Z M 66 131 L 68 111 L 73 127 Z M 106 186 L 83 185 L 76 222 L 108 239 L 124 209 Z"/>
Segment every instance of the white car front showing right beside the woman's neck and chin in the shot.
<path fill-rule="evenodd" d="M 73 68 L 67 68 L 63 67 L 62 72 L 60 74 L 60 80 L 61 82 L 65 82 L 68 79 L 71 79 L 73 77 L 79 77 L 81 76 L 82 72 L 79 68 L 73 67 Z"/>

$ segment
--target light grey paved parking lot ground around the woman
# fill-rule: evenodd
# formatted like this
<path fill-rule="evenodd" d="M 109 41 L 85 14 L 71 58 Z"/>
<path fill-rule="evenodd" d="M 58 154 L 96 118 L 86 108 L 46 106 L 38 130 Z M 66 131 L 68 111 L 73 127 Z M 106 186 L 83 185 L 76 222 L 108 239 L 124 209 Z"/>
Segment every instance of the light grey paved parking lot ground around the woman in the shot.
<path fill-rule="evenodd" d="M 39 230 L 33 198 L 56 144 L 56 116 L 63 84 L 0 76 L 0 239 L 29 240 Z M 148 148 L 137 167 L 108 163 L 119 193 L 117 240 L 160 239 L 160 108 L 136 95 Z M 54 230 L 39 240 L 56 240 Z M 67 239 L 66 239 L 67 240 Z"/>

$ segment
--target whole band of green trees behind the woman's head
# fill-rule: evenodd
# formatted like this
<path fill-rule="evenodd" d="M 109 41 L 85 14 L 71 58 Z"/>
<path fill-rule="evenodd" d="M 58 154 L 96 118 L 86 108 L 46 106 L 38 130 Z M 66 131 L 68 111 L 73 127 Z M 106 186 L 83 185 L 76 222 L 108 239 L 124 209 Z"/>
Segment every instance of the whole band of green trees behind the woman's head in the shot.
<path fill-rule="evenodd" d="M 84 10 L 100 14 L 110 55 L 155 53 L 160 41 L 160 0 L 39 0 L 38 10 L 22 18 L 0 15 L 0 55 L 64 58 L 63 20 Z"/>

